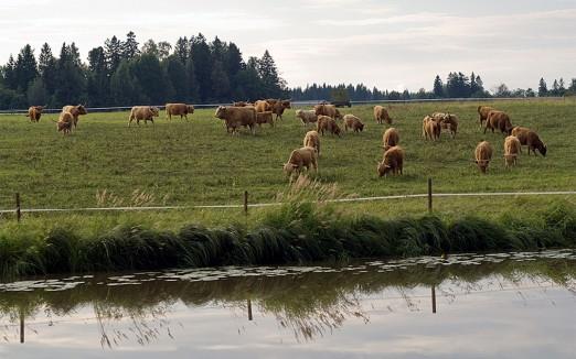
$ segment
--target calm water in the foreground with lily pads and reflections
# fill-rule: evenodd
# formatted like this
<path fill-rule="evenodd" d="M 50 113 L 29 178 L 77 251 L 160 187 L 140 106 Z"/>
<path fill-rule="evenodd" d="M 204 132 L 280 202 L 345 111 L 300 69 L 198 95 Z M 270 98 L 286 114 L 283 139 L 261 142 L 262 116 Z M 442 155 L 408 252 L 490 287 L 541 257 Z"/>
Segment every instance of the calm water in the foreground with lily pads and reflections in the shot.
<path fill-rule="evenodd" d="M 0 283 L 0 358 L 574 358 L 576 252 Z"/>

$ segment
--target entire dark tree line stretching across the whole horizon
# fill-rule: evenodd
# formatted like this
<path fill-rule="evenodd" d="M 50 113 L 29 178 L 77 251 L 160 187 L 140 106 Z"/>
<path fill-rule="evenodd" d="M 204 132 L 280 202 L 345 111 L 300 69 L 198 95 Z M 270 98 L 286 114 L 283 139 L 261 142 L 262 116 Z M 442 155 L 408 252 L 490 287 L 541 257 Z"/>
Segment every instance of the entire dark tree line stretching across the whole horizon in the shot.
<path fill-rule="evenodd" d="M 0 66 L 0 109 L 31 105 L 89 107 L 230 102 L 289 97 L 292 100 L 408 100 L 437 98 L 545 97 L 576 95 L 576 78 L 569 85 L 555 79 L 548 88 L 544 78 L 536 90 L 510 89 L 500 84 L 484 89 L 480 75 L 449 73 L 442 81 L 436 75 L 431 90 L 380 90 L 358 85 L 312 84 L 288 88 L 268 51 L 244 61 L 241 50 L 217 36 L 209 42 L 199 33 L 180 37 L 174 45 L 148 40 L 140 45 L 134 32 L 126 39 L 107 39 L 88 52 L 83 62 L 74 43 L 64 43 L 58 56 L 45 43 L 36 58 L 26 44 L 14 58 Z"/>

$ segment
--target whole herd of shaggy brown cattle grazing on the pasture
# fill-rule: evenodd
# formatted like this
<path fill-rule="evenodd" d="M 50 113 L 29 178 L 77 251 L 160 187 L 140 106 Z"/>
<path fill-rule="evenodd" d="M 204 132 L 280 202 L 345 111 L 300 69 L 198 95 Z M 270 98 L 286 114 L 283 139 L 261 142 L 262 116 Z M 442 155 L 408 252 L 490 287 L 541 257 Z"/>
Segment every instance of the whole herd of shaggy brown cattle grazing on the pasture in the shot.
<path fill-rule="evenodd" d="M 224 121 L 226 131 L 237 134 L 242 127 L 247 128 L 254 134 L 256 126 L 268 123 L 275 126 L 276 120 L 281 120 L 286 109 L 290 109 L 290 100 L 266 99 L 255 102 L 234 102 L 233 106 L 220 106 L 214 115 Z M 28 111 L 28 117 L 32 122 L 39 122 L 42 116 L 43 106 L 32 106 Z M 78 126 L 79 116 L 86 115 L 86 108 L 82 105 L 65 106 L 60 113 L 57 131 L 68 134 Z M 159 109 L 153 106 L 135 106 L 130 111 L 128 126 L 136 121 L 151 121 L 160 113 Z M 180 116 L 181 119 L 188 120 L 188 115 L 194 113 L 194 107 L 185 104 L 167 104 L 166 116 L 168 120 L 172 116 Z M 540 139 L 538 134 L 525 127 L 513 127 L 510 117 L 504 112 L 492 107 L 479 106 L 478 113 L 480 116 L 480 127 L 483 133 L 491 130 L 492 133 L 499 130 L 505 138 L 503 142 L 504 165 L 505 167 L 516 164 L 518 156 L 522 152 L 522 145 L 527 146 L 527 153 L 536 155 L 538 151 L 543 156 L 546 155 L 547 148 Z M 342 121 L 344 131 L 361 132 L 364 130 L 364 123 L 354 115 L 348 113 L 342 116 L 338 108 L 326 102 L 316 105 L 312 110 L 298 109 L 296 118 L 301 120 L 302 126 L 316 123 L 316 130 L 308 131 L 303 139 L 303 146 L 294 150 L 290 153 L 288 162 L 284 165 L 284 171 L 288 176 L 299 174 L 303 168 L 307 171 L 312 167 L 318 171 L 318 159 L 320 156 L 320 135 L 330 133 L 332 135 L 342 135 L 342 129 L 338 120 Z M 390 117 L 386 108 L 382 106 L 374 107 L 374 120 L 378 124 L 392 124 L 393 119 Z M 442 129 L 450 133 L 452 139 L 458 132 L 458 117 L 454 113 L 435 112 L 425 116 L 422 126 L 422 138 L 426 141 L 437 141 L 440 139 Z M 382 149 L 384 151 L 382 161 L 377 163 L 377 174 L 387 176 L 387 174 L 402 174 L 405 151 L 399 146 L 399 132 L 397 129 L 390 127 L 384 131 L 382 137 Z M 487 173 L 488 165 L 493 156 L 493 148 L 488 141 L 478 143 L 474 150 L 474 163 L 482 173 Z"/>

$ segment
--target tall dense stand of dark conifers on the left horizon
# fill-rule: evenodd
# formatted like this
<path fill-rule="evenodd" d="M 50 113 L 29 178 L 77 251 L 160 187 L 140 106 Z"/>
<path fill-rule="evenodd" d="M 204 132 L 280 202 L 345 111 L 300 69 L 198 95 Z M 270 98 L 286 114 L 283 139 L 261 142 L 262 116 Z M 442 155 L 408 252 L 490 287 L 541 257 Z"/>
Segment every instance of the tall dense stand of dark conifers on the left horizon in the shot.
<path fill-rule="evenodd" d="M 232 99 L 282 97 L 286 81 L 268 51 L 244 61 L 238 46 L 201 33 L 140 45 L 134 32 L 126 40 L 107 39 L 92 48 L 87 63 L 77 46 L 64 43 L 56 57 L 45 43 L 36 58 L 25 45 L 0 67 L 0 108 L 29 105 L 61 107 L 228 102 Z"/>

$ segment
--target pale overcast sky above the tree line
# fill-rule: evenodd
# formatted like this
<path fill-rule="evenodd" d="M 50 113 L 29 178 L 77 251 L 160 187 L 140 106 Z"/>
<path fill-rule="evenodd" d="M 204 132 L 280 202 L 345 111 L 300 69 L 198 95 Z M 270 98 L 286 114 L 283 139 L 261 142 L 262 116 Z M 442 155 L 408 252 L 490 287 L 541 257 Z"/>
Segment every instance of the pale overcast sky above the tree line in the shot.
<path fill-rule="evenodd" d="M 436 74 L 480 74 L 488 88 L 576 77 L 576 0 L 0 0 L 0 62 L 30 43 L 83 57 L 106 37 L 174 43 L 202 32 L 244 57 L 268 48 L 289 86 L 364 83 L 431 88 Z"/>

